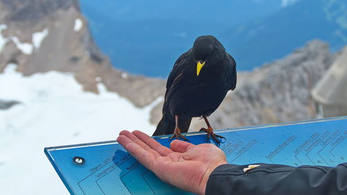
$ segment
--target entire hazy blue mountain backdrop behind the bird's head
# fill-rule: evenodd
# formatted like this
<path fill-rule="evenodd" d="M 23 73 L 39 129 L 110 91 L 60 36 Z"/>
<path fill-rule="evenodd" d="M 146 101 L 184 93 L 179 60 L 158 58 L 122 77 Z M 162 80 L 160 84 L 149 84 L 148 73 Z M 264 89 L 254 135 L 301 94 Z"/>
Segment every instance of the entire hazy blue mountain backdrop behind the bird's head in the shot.
<path fill-rule="evenodd" d="M 347 40 L 337 17 L 344 12 L 333 0 L 301 0 L 285 8 L 277 0 L 158 2 L 81 1 L 96 43 L 115 67 L 165 78 L 198 35 L 221 40 L 239 70 L 282 58 L 312 39 L 328 41 L 332 49 Z"/>

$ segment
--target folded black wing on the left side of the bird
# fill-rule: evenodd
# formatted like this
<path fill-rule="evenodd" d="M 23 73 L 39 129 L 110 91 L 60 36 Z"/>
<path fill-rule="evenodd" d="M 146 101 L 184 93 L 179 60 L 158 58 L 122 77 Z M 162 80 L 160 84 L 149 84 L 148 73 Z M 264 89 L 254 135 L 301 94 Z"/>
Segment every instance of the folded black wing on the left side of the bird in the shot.
<path fill-rule="evenodd" d="M 183 53 L 175 62 L 169 77 L 167 78 L 167 91 L 165 92 L 164 105 L 162 107 L 162 112 L 167 110 L 171 94 L 176 91 L 177 83 L 180 82 L 182 78 L 183 70 L 189 65 L 189 51 Z"/>

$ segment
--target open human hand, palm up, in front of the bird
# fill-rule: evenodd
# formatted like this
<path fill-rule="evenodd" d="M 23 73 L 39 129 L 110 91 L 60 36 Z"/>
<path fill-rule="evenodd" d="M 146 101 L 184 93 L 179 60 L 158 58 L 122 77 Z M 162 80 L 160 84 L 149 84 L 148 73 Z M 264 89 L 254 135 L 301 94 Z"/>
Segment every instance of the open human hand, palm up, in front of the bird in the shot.
<path fill-rule="evenodd" d="M 174 140 L 168 149 L 139 130 L 121 131 L 117 142 L 158 178 L 194 194 L 205 194 L 210 173 L 226 164 L 226 155 L 213 144 Z"/>

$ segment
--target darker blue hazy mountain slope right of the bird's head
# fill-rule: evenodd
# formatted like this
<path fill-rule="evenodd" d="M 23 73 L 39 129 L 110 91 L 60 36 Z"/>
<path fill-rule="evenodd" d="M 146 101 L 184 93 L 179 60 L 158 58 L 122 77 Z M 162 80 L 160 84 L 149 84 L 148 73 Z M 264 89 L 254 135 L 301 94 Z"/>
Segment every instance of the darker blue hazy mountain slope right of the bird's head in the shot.
<path fill-rule="evenodd" d="M 264 19 L 233 26 L 221 36 L 228 37 L 224 44 L 244 69 L 282 58 L 316 38 L 329 42 L 336 51 L 347 44 L 347 31 L 336 20 L 328 19 L 327 3 L 328 0 L 301 0 Z"/>

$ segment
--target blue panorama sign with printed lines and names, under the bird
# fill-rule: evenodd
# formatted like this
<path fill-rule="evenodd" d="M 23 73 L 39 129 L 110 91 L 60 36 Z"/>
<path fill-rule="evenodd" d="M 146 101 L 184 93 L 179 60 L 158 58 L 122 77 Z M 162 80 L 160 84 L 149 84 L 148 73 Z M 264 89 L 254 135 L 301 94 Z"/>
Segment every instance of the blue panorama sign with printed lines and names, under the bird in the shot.
<path fill-rule="evenodd" d="M 335 167 L 347 161 L 347 117 L 215 133 L 226 137 L 219 147 L 232 164 Z M 194 144 L 207 142 L 205 133 L 186 135 Z M 167 136 L 158 138 L 169 146 Z M 115 141 L 49 147 L 44 152 L 71 194 L 189 194 L 163 183 Z"/>

